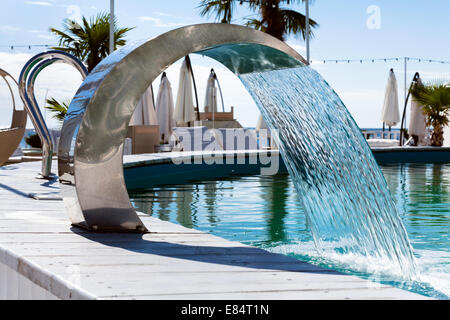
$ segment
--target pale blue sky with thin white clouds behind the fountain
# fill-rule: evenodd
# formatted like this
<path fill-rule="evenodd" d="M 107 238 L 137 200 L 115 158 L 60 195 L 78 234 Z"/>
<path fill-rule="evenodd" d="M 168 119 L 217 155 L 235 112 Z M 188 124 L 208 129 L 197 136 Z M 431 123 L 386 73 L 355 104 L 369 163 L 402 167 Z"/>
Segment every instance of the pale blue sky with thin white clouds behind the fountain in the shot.
<path fill-rule="evenodd" d="M 128 34 L 129 41 L 149 38 L 168 30 L 194 23 L 213 22 L 214 18 L 200 17 L 199 0 L 116 0 L 116 16 L 121 26 L 136 27 Z M 41 48 L 19 48 L 17 45 L 56 44 L 49 27 L 60 28 L 62 20 L 80 15 L 92 16 L 109 10 L 109 0 L 2 0 L 0 11 L 0 67 L 18 76 L 21 66 Z M 368 8 L 379 9 L 379 20 L 374 28 L 367 22 L 374 16 Z M 293 6 L 304 11 L 303 5 Z M 403 62 L 376 63 L 320 63 L 323 59 L 359 59 L 384 57 L 418 57 L 450 61 L 450 1 L 448 0 L 315 0 L 310 14 L 320 27 L 311 42 L 313 67 L 324 76 L 343 99 L 361 127 L 380 127 L 380 112 L 388 71 L 394 68 L 399 89 L 403 89 Z M 235 23 L 251 12 L 238 9 Z M 372 26 L 373 27 L 373 26 Z M 304 42 L 290 37 L 288 44 L 304 54 Z M 14 45 L 14 50 L 10 46 Z M 225 91 L 226 108 L 235 106 L 239 120 L 254 126 L 257 109 L 239 80 L 212 60 L 193 58 L 203 96 L 210 67 L 216 68 Z M 169 69 L 174 91 L 177 88 L 179 64 Z M 52 66 L 45 70 L 36 83 L 36 96 L 45 95 L 70 99 L 81 83 L 77 73 L 68 66 Z M 408 81 L 414 72 L 425 79 L 450 79 L 450 64 L 411 62 Z M 155 86 L 158 82 L 154 83 Z M 400 92 L 403 97 L 403 91 Z M 202 100 L 201 104 L 202 104 Z M 10 102 L 6 86 L 0 84 L 0 127 L 10 119 Z M 49 120 L 52 126 L 55 122 Z M 31 124 L 29 124 L 30 126 Z"/>

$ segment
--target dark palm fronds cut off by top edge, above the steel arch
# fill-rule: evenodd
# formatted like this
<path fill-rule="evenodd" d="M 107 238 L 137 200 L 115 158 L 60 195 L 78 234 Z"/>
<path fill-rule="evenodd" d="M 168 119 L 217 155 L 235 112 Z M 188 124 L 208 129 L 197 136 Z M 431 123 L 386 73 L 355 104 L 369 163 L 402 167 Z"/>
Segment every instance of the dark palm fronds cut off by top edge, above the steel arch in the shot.
<path fill-rule="evenodd" d="M 201 0 L 202 16 L 215 13 L 216 20 L 231 23 L 236 6 L 247 5 L 252 11 L 258 12 L 258 18 L 246 19 L 246 25 L 268 33 L 282 41 L 288 34 L 306 37 L 306 17 L 295 10 L 281 7 L 304 2 L 304 0 Z M 311 28 L 317 28 L 314 20 L 309 20 Z M 310 36 L 312 36 L 310 29 Z"/>

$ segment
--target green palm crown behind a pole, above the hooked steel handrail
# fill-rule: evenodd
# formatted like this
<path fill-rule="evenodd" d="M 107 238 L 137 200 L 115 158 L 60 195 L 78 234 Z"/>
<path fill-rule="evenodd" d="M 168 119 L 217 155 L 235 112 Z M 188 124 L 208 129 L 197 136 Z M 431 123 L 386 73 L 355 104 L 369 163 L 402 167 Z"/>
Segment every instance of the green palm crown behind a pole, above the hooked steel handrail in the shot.
<path fill-rule="evenodd" d="M 114 23 L 117 26 L 117 23 Z M 109 53 L 109 13 L 100 13 L 95 17 L 82 18 L 82 25 L 65 19 L 64 31 L 50 28 L 59 37 L 59 46 L 52 49 L 73 54 L 92 69 Z M 125 34 L 134 28 L 115 28 L 114 49 L 126 43 Z"/>

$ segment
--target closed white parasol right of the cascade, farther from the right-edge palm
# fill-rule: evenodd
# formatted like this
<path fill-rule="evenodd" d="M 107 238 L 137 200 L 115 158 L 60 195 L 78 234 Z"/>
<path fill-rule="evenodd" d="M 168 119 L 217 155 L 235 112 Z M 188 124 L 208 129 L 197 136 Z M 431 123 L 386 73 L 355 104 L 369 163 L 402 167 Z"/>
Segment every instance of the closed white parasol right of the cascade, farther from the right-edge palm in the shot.
<path fill-rule="evenodd" d="M 384 94 L 384 104 L 381 111 L 381 121 L 389 127 L 395 126 L 400 122 L 400 113 L 398 110 L 398 89 L 397 79 L 394 70 L 389 72 L 389 79 Z"/>

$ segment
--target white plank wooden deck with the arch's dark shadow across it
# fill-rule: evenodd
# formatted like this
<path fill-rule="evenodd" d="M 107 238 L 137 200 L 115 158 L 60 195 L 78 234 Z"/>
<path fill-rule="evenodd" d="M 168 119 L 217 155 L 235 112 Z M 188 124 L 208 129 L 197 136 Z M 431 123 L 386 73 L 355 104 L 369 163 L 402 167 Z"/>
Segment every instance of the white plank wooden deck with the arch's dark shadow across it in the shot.
<path fill-rule="evenodd" d="M 37 285 L 45 297 L 425 298 L 143 214 L 151 231 L 144 236 L 72 228 L 62 201 L 28 197 L 59 193 L 58 182 L 35 179 L 39 168 L 40 162 L 0 167 L 0 266 Z M 0 276 L 0 296 L 8 296 L 10 282 Z M 16 298 L 33 296 L 30 289 L 15 290 Z"/>

